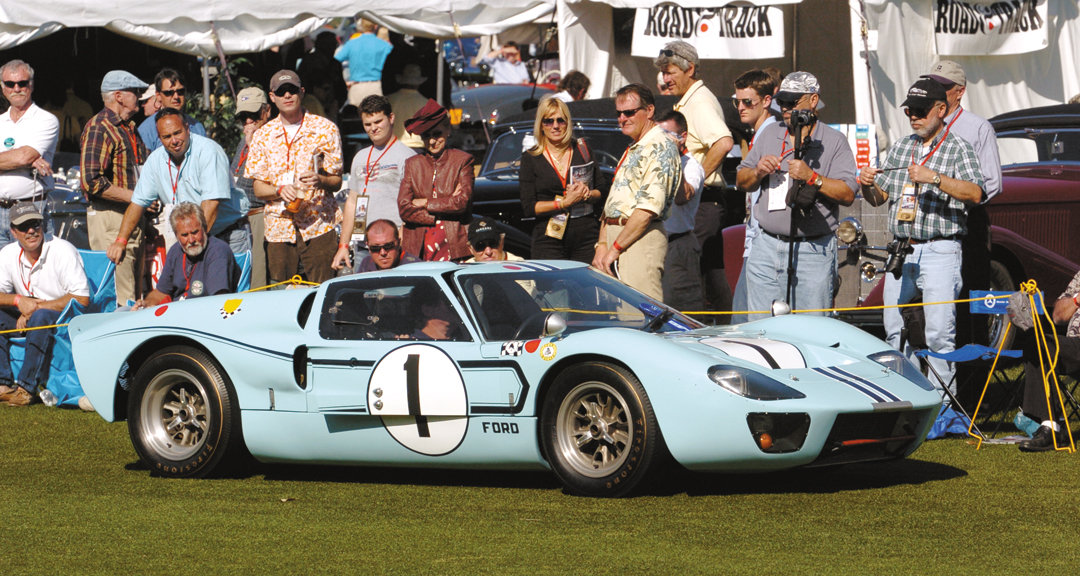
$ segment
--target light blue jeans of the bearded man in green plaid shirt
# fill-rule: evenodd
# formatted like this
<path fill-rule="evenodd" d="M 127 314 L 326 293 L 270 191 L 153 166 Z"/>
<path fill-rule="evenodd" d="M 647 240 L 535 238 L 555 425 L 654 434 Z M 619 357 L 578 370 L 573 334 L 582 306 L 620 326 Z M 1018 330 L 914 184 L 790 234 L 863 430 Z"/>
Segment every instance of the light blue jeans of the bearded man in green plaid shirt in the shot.
<path fill-rule="evenodd" d="M 960 295 L 960 265 L 963 263 L 960 241 L 937 240 L 916 244 L 912 247 L 915 249 L 915 252 L 908 254 L 907 259 L 904 260 L 904 273 L 900 280 L 893 278 L 892 274 L 886 274 L 886 306 L 907 304 L 918 296 L 919 292 L 922 293 L 922 302 L 955 300 Z M 927 317 L 927 346 L 931 350 L 942 353 L 956 350 L 956 305 L 926 306 L 922 310 Z M 904 327 L 900 308 L 886 308 L 882 316 L 889 345 L 899 350 L 900 331 Z M 906 343 L 904 348 L 901 351 L 918 366 L 919 361 L 915 358 L 915 350 Z M 939 383 L 939 386 L 948 385 L 949 391 L 956 393 L 956 383 L 953 381 L 956 366 L 951 362 L 936 358 L 929 360 L 930 365 L 945 380 Z M 932 374 L 930 378 L 930 381 L 933 381 Z"/>

